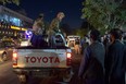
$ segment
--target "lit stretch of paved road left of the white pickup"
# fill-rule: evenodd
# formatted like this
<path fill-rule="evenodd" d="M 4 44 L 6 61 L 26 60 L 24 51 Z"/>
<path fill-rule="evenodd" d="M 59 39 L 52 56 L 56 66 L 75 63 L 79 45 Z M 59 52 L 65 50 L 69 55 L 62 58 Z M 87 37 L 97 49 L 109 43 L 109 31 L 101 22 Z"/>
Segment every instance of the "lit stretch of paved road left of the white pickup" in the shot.
<path fill-rule="evenodd" d="M 0 84 L 20 84 L 16 74 L 12 71 L 12 61 L 0 63 Z"/>

